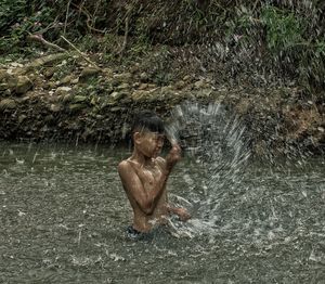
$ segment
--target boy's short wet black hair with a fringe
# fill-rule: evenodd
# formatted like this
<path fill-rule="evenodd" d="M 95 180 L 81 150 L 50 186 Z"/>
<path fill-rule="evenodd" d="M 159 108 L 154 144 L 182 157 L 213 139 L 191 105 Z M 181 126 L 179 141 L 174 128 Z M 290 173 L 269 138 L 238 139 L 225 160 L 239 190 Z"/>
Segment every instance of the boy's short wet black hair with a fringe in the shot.
<path fill-rule="evenodd" d="M 142 111 L 135 115 L 131 133 L 135 131 L 148 130 L 152 132 L 158 132 L 159 134 L 165 133 L 165 126 L 162 119 L 152 111 Z"/>

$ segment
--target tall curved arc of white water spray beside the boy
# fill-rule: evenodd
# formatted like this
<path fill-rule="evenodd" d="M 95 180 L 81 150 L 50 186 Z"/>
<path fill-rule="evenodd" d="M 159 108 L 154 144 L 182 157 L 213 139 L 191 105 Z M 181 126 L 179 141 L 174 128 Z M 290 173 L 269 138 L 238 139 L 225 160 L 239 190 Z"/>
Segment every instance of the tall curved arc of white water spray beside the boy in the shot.
<path fill-rule="evenodd" d="M 188 196 L 194 218 L 185 230 L 184 225 L 177 228 L 178 223 L 172 221 L 171 225 L 187 235 L 203 229 L 205 232 L 213 230 L 220 203 L 226 198 L 223 195 L 235 194 L 238 190 L 250 156 L 245 125 L 219 103 L 185 102 L 173 109 L 167 133 L 179 141 L 197 169 L 183 177 L 192 189 Z M 174 199 L 188 208 L 188 201 L 180 196 Z"/>

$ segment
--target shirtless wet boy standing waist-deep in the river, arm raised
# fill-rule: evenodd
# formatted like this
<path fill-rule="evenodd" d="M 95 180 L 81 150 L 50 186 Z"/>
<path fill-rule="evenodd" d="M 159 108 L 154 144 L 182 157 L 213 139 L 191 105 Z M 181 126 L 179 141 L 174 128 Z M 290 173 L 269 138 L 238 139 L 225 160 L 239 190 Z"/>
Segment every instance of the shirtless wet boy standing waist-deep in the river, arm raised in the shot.
<path fill-rule="evenodd" d="M 171 150 L 166 158 L 159 156 L 165 141 L 162 120 L 153 112 L 141 112 L 133 121 L 131 134 L 133 153 L 120 162 L 118 172 L 134 214 L 128 235 L 138 238 L 155 223 L 166 223 L 170 214 L 178 215 L 182 221 L 191 216 L 167 201 L 166 183 L 181 158 L 181 149 L 176 141 L 170 141 Z"/>

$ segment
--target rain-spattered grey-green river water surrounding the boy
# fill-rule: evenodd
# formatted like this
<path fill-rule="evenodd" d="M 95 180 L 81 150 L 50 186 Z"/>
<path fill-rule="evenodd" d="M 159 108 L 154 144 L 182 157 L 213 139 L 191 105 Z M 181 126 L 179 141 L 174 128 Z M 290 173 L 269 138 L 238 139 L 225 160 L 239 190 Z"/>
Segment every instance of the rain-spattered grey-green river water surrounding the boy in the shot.
<path fill-rule="evenodd" d="M 147 243 L 123 234 L 127 152 L 0 143 L 1 283 L 324 283 L 324 159 L 249 162 L 211 196 L 185 157 L 169 192 L 193 220 Z"/>

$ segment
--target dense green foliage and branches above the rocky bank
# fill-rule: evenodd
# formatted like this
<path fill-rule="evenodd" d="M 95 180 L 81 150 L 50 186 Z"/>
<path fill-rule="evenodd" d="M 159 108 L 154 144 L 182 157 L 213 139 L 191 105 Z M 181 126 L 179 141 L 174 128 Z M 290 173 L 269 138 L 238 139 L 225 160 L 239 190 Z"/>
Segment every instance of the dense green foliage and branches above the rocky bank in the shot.
<path fill-rule="evenodd" d="M 231 77 L 247 70 L 265 75 L 266 68 L 323 89 L 324 14 L 321 0 L 1 0 L 0 52 L 28 51 L 28 36 L 36 34 L 57 44 L 64 44 L 64 35 L 83 51 L 112 56 L 141 56 L 164 44 L 186 49 L 180 57 L 199 61 L 204 72 L 221 63 Z"/>

